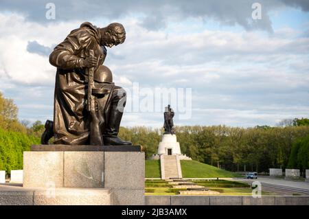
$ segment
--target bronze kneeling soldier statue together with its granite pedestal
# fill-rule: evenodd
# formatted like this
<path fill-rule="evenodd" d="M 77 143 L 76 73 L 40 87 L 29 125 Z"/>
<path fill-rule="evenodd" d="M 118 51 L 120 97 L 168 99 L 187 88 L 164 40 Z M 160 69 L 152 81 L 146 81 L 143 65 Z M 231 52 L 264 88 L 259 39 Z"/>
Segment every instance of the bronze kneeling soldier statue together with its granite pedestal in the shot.
<path fill-rule="evenodd" d="M 23 154 L 23 187 L 36 188 L 34 205 L 144 205 L 144 152 L 118 137 L 126 92 L 103 65 L 106 47 L 125 39 L 120 23 L 85 22 L 50 54 L 54 121 L 41 145 Z"/>

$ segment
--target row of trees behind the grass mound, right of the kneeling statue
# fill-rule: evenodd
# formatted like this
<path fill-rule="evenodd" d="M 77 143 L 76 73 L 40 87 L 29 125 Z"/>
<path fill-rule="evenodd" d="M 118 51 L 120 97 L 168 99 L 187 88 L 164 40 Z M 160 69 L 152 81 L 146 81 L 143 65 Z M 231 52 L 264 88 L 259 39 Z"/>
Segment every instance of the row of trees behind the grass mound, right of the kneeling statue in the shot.
<path fill-rule="evenodd" d="M 120 136 L 141 144 L 149 158 L 157 153 L 161 131 L 145 127 L 122 128 Z M 176 127 L 183 154 L 232 171 L 268 172 L 268 168 L 287 168 L 293 143 L 308 135 L 309 126 Z M 308 148 L 304 150 L 308 154 Z"/>

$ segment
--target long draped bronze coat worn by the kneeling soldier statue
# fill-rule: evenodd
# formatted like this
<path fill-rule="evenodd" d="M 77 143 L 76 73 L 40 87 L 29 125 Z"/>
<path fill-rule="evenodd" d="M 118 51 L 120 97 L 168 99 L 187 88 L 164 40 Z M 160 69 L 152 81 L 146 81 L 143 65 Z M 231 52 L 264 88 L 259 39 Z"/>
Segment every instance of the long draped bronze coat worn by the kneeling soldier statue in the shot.
<path fill-rule="evenodd" d="M 49 62 L 57 67 L 54 95 L 55 144 L 77 145 L 89 141 L 87 71 L 81 67 L 81 62 L 89 56 L 89 50 L 93 49 L 94 56 L 98 58 L 94 71 L 103 64 L 106 48 L 100 45 L 100 40 L 97 27 L 88 22 L 82 23 L 49 56 Z M 113 84 L 101 84 L 101 87 L 111 91 Z M 101 107 L 104 117 L 104 106 Z"/>

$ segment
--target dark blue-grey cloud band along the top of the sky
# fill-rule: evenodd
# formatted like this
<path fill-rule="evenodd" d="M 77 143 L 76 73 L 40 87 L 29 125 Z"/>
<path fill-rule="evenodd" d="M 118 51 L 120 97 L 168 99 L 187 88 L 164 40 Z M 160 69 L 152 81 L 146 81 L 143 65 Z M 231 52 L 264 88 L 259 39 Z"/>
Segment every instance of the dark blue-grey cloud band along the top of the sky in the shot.
<path fill-rule="evenodd" d="M 41 1 L 21 1 L 11 0 L 1 1 L 1 11 L 19 12 L 27 16 L 27 20 L 38 23 L 49 23 L 46 19 L 45 5 L 49 0 Z M 271 19 L 269 13 L 274 8 L 281 8 L 286 5 L 293 8 L 301 8 L 305 12 L 309 10 L 308 1 L 301 0 L 259 0 L 262 5 L 262 18 L 253 21 L 251 13 L 252 4 L 255 0 L 157 0 L 157 1 L 113 1 L 113 0 L 54 0 L 56 5 L 56 19 L 58 21 L 76 21 L 79 19 L 89 20 L 93 18 L 107 18 L 110 20 L 119 19 L 139 14 L 139 23 L 148 30 L 160 30 L 170 23 L 170 21 L 185 21 L 187 18 L 198 18 L 208 21 L 212 19 L 222 25 L 240 25 L 245 30 L 262 29 L 272 32 Z"/>

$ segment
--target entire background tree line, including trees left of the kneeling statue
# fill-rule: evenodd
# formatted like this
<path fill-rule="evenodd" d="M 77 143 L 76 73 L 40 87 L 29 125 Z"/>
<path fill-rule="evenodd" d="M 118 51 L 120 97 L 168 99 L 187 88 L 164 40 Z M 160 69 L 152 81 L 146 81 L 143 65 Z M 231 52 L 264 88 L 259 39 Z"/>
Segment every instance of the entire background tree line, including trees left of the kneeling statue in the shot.
<path fill-rule="evenodd" d="M 40 121 L 19 122 L 13 100 L 0 93 L 0 170 L 22 168 L 23 151 L 40 143 Z M 196 161 L 231 171 L 268 172 L 268 168 L 309 168 L 309 119 L 284 119 L 276 127 L 176 126 L 181 152 Z M 119 137 L 157 154 L 163 128 L 121 127 Z"/>

